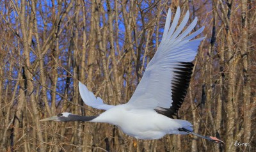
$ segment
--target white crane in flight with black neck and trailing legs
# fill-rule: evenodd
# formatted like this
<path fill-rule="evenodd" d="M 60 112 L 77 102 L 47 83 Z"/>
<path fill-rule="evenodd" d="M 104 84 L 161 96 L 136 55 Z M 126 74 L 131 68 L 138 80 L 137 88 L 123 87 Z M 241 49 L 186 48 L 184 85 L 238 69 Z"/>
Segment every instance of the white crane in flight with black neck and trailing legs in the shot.
<path fill-rule="evenodd" d="M 194 133 L 193 125 L 188 121 L 173 119 L 173 116 L 177 116 L 177 111 L 186 96 L 194 66 L 192 61 L 195 59 L 200 41 L 204 39 L 193 39 L 204 30 L 204 27 L 201 27 L 191 33 L 196 26 L 197 18 L 184 30 L 189 19 L 189 11 L 177 26 L 179 18 L 178 7 L 170 26 L 171 10 L 168 10 L 162 41 L 128 103 L 105 104 L 79 82 L 79 92 L 84 103 L 106 111 L 98 116 L 77 116 L 63 112 L 40 121 L 109 123 L 118 126 L 124 133 L 136 139 L 160 139 L 166 134 L 190 133 L 223 144 L 223 141 L 216 137 Z"/>

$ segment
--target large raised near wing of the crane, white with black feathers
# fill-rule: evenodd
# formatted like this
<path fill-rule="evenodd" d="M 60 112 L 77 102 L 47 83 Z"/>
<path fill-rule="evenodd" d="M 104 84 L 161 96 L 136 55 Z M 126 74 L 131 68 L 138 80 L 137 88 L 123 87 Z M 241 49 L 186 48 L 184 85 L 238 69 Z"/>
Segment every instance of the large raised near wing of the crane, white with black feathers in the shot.
<path fill-rule="evenodd" d="M 191 62 L 195 59 L 198 45 L 204 38 L 191 39 L 202 33 L 204 27 L 189 34 L 196 26 L 195 18 L 187 29 L 180 33 L 188 22 L 189 11 L 177 27 L 179 18 L 180 8 L 177 8 L 170 27 L 171 10 L 168 10 L 163 39 L 155 56 L 148 63 L 140 84 L 126 103 L 128 107 L 155 109 L 172 118 L 184 101 L 193 70 Z"/>

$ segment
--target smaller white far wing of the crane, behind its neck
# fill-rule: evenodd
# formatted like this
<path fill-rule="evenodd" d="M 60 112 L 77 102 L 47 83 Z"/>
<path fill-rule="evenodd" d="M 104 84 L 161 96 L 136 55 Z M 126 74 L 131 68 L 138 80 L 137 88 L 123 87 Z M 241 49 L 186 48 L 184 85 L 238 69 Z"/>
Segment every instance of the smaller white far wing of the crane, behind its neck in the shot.
<path fill-rule="evenodd" d="M 79 86 L 79 93 L 83 99 L 83 102 L 86 105 L 89 105 L 90 107 L 96 108 L 96 109 L 102 109 L 102 110 L 108 110 L 112 107 L 115 107 L 115 105 L 107 105 L 103 103 L 103 100 L 100 97 L 95 97 L 91 91 L 87 89 L 87 87 L 82 84 L 81 82 L 78 83 Z"/>

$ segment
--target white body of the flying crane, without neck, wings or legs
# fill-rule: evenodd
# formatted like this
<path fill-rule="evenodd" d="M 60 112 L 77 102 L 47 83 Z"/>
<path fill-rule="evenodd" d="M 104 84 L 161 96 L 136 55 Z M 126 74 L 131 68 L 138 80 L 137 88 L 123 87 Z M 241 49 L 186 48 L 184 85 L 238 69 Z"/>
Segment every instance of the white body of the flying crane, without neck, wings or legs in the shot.
<path fill-rule="evenodd" d="M 116 125 L 136 139 L 160 139 L 166 134 L 187 134 L 179 132 L 179 128 L 193 131 L 193 125 L 188 121 L 168 118 L 153 109 L 129 109 L 126 104 L 106 110 L 91 122 Z"/>

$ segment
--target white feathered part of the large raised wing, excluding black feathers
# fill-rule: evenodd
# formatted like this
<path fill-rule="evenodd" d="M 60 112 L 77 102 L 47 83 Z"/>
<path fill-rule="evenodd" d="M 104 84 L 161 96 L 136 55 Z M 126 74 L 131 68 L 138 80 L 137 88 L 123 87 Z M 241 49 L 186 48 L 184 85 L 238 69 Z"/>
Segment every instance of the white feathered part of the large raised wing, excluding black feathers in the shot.
<path fill-rule="evenodd" d="M 179 27 L 177 27 L 177 24 L 180 17 L 180 8 L 177 8 L 172 26 L 170 27 L 171 14 L 169 9 L 162 42 L 155 56 L 148 63 L 132 98 L 126 103 L 132 109 L 170 108 L 172 106 L 171 82 L 173 77 L 175 77 L 173 70 L 180 62 L 193 61 L 200 41 L 204 39 L 191 40 L 202 33 L 204 27 L 188 35 L 196 26 L 197 18 L 193 20 L 183 33 L 180 33 L 188 22 L 189 11 L 187 11 Z"/>

